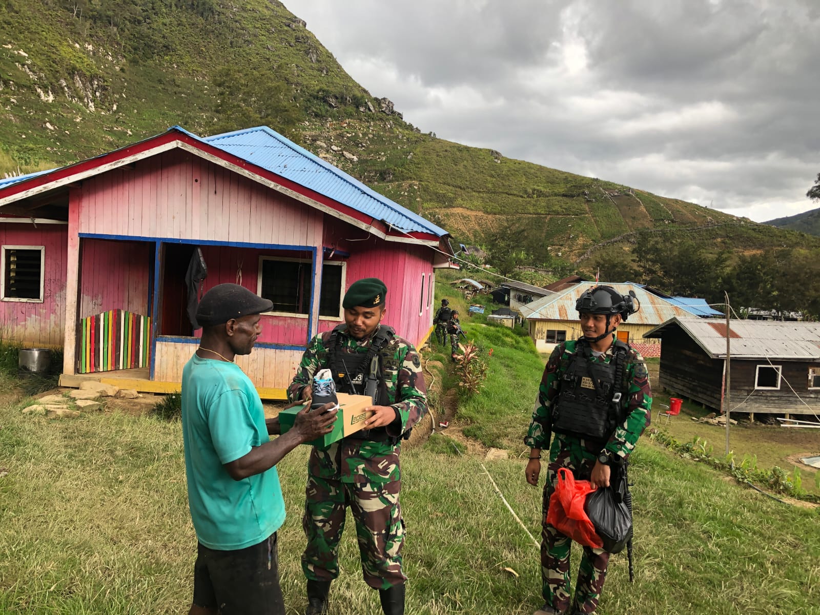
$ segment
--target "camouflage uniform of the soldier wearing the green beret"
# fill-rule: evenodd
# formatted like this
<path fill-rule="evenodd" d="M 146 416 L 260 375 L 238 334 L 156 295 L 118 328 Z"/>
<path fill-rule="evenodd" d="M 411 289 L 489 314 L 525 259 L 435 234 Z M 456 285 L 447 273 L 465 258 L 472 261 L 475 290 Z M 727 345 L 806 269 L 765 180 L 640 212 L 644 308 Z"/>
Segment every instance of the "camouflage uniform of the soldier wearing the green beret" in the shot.
<path fill-rule="evenodd" d="M 375 333 L 375 331 L 374 331 Z M 330 331 L 314 337 L 303 354 L 288 389 L 292 401 L 301 398 L 313 375 L 328 365 Z M 371 337 L 342 335 L 339 352 L 367 353 Z M 406 339 L 395 336 L 381 349 L 390 405 L 399 420 L 387 426 L 400 439 L 427 412 L 421 358 Z M 400 440 L 399 440 L 400 442 Z M 407 580 L 402 572 L 404 522 L 399 506 L 400 444 L 356 440 L 348 436 L 327 449 L 313 447 L 307 462 L 303 527 L 307 549 L 302 568 L 308 579 L 332 581 L 339 575 L 339 539 L 349 505 L 356 522 L 362 573 L 367 585 L 386 590 Z"/>

